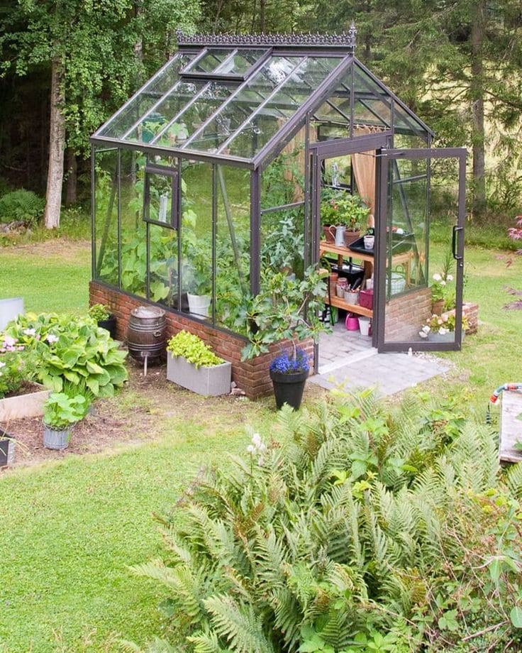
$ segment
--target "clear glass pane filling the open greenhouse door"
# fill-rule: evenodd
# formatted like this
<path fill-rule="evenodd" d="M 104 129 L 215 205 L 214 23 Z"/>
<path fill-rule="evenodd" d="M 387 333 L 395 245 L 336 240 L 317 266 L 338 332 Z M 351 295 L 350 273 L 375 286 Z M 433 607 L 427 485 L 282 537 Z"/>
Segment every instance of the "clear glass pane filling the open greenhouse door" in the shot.
<path fill-rule="evenodd" d="M 389 161 L 387 343 L 455 342 L 455 318 L 447 311 L 455 307 L 451 241 L 459 214 L 458 165 L 457 158 Z M 439 296 L 443 301 L 436 307 L 432 298 Z"/>

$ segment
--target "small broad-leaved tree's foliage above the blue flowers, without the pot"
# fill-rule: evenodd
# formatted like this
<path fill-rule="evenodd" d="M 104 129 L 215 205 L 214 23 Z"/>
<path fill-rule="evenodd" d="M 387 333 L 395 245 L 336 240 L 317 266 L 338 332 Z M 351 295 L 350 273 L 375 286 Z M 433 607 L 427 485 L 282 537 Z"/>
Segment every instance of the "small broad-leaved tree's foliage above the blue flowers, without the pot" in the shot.
<path fill-rule="evenodd" d="M 248 302 L 243 319 L 248 322 L 249 342 L 243 360 L 269 351 L 270 345 L 288 340 L 296 360 L 300 340 L 318 341 L 329 325 L 321 322 L 326 284 L 315 268 L 306 270 L 304 279 L 284 273 L 268 273 L 262 278 L 262 291 Z"/>

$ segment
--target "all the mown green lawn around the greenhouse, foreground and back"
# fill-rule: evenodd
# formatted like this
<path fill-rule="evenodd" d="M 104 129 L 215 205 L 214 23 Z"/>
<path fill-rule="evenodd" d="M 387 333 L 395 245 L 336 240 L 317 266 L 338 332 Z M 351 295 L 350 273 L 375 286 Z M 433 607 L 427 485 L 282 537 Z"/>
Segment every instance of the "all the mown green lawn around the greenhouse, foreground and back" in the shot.
<path fill-rule="evenodd" d="M 89 249 L 58 243 L 4 248 L 0 295 L 23 294 L 30 310 L 87 307 Z M 455 363 L 450 380 L 429 387 L 441 397 L 467 390 L 466 410 L 479 415 L 497 385 L 521 380 L 522 313 L 502 308 L 521 266 L 467 251 L 466 297 L 479 302 L 482 324 L 462 353 L 444 354 Z M 132 411 L 130 391 L 121 401 Z M 160 632 L 157 586 L 128 570 L 162 552 L 152 513 L 167 510 L 202 463 L 226 464 L 244 449 L 245 424 L 267 433 L 274 422 L 270 402 L 186 402 L 150 404 L 161 432 L 152 439 L 135 433 L 132 444 L 0 476 L 1 653 L 116 652 L 118 637 L 141 643 Z"/>

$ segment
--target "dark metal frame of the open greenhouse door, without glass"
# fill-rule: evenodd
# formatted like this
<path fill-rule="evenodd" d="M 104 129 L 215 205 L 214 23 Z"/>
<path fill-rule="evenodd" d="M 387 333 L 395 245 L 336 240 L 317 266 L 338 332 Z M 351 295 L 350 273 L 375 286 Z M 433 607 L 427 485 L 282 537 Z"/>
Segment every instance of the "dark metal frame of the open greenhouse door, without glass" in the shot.
<path fill-rule="evenodd" d="M 460 350 L 461 349 L 461 338 L 462 338 L 462 290 L 463 290 L 463 280 L 464 280 L 464 226 L 465 226 L 465 216 L 466 216 L 466 203 L 465 203 L 465 183 L 466 183 L 466 155 L 467 150 L 465 148 L 426 148 L 426 149 L 389 149 L 382 150 L 381 156 L 377 159 L 377 170 L 378 170 L 378 179 L 379 179 L 379 193 L 377 197 L 379 198 L 378 211 L 376 217 L 376 226 L 377 226 L 377 249 L 378 256 L 377 260 L 379 265 L 376 270 L 376 280 L 377 280 L 377 297 L 375 298 L 377 302 L 377 322 L 375 324 L 377 331 L 377 349 L 379 352 L 386 351 L 407 351 L 408 349 L 413 349 L 416 351 L 451 351 L 451 350 Z M 398 158 L 404 159 L 413 159 L 420 160 L 426 159 L 429 163 L 431 159 L 439 158 L 454 158 L 459 162 L 459 186 L 458 186 L 458 216 L 457 216 L 457 231 L 453 231 L 454 235 L 454 256 L 457 260 L 457 274 L 455 278 L 455 341 L 453 342 L 429 342 L 426 340 L 422 341 L 396 341 L 390 342 L 386 341 L 385 329 L 386 329 L 386 303 L 387 303 L 387 292 L 386 290 L 386 261 L 387 261 L 387 220 L 388 220 L 388 211 L 389 211 L 389 162 L 394 161 Z M 429 176 L 428 176 L 429 181 Z M 429 195 L 428 195 L 429 200 Z M 427 212 L 429 212 L 429 202 L 427 204 Z M 429 221 L 429 214 L 426 216 L 426 220 Z M 428 225 L 427 229 L 428 231 Z M 460 236 L 460 238 L 458 237 Z M 428 287 L 428 282 L 426 280 L 426 287 Z M 417 290 L 417 289 L 416 289 Z M 414 292 L 414 291 L 412 291 Z M 400 297 L 406 293 L 401 293 L 400 295 L 394 295 L 391 299 L 395 297 Z M 421 325 L 419 324 L 419 329 Z"/>

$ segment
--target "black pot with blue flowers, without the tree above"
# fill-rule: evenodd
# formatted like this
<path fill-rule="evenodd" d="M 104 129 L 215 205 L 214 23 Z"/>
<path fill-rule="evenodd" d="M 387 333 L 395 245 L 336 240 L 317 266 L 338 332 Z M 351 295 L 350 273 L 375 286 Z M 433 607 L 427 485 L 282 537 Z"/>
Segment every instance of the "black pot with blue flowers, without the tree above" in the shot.
<path fill-rule="evenodd" d="M 310 371 L 310 358 L 303 350 L 284 351 L 270 363 L 270 378 L 274 385 L 277 409 L 288 404 L 298 410 Z"/>

